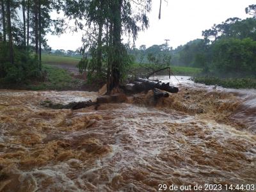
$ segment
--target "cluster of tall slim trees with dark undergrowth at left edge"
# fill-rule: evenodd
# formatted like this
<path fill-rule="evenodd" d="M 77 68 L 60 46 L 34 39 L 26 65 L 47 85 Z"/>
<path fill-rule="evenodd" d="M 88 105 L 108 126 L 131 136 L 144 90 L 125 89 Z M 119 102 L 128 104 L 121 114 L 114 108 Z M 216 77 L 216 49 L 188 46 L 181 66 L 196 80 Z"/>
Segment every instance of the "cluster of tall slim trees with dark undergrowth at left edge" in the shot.
<path fill-rule="evenodd" d="M 57 7 L 56 1 L 48 0 L 1 1 L 1 81 L 22 84 L 29 80 L 44 79 L 45 71 L 41 68 L 42 47 L 50 50 L 45 35 L 49 32 L 60 33 L 63 24 L 63 20 L 50 17 L 50 12 Z M 31 52 L 34 50 L 35 53 Z"/>

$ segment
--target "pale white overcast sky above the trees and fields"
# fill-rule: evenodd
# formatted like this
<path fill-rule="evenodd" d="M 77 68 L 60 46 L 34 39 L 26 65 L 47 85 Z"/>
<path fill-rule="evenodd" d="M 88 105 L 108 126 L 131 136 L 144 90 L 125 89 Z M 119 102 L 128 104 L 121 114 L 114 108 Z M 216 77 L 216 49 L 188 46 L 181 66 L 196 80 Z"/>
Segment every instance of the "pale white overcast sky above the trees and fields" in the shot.
<path fill-rule="evenodd" d="M 163 44 L 164 39 L 170 39 L 169 44 L 173 48 L 184 45 L 190 40 L 202 38 L 202 31 L 213 24 L 220 24 L 230 17 L 249 17 L 244 9 L 256 3 L 255 0 L 168 0 L 168 3 L 163 1 L 159 20 L 159 1 L 152 0 L 150 27 L 139 33 L 136 47 Z M 61 36 L 47 35 L 47 39 L 52 49 L 76 50 L 81 47 L 81 36 L 81 33 L 67 31 Z"/>

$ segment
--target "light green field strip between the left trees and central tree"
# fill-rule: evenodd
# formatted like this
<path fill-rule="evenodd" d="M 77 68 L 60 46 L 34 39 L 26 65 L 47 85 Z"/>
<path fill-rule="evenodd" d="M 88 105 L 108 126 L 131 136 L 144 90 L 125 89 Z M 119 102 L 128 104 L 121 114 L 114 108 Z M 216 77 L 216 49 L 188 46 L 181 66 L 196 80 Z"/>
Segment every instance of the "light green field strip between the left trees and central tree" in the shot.
<path fill-rule="evenodd" d="M 42 54 L 42 62 L 51 65 L 77 65 L 80 58 Z"/>

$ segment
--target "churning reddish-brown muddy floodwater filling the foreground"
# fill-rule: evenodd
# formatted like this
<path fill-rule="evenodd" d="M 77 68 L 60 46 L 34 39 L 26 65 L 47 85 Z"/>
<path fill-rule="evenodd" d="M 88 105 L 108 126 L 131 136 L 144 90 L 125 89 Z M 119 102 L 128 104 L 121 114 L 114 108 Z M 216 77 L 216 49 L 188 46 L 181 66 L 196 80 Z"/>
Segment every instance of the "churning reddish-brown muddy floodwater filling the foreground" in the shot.
<path fill-rule="evenodd" d="M 0 90 L 0 191 L 255 191 L 256 91 L 178 78 L 170 83 L 180 92 L 157 103 L 148 92 L 97 110 L 40 105 L 95 100 L 95 92 Z"/>

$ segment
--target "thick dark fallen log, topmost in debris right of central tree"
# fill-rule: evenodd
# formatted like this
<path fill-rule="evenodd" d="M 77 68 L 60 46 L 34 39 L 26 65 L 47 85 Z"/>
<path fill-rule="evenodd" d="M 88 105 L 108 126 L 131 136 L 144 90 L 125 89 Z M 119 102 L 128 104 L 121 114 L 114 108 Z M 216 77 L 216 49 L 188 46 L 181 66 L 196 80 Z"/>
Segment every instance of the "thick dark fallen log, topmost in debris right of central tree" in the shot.
<path fill-rule="evenodd" d="M 148 90 L 153 90 L 157 88 L 170 93 L 179 92 L 179 88 L 175 86 L 170 86 L 170 83 L 161 83 L 156 81 L 150 81 L 148 79 L 138 78 L 133 83 L 126 84 L 124 90 L 126 92 L 143 92 Z"/>

